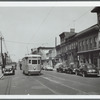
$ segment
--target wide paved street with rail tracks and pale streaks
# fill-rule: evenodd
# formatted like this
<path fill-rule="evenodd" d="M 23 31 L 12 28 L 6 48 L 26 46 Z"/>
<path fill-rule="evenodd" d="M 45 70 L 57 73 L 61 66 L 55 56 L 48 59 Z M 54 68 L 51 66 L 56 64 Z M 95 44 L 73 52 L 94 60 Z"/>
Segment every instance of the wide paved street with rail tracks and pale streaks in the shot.
<path fill-rule="evenodd" d="M 0 80 L 1 95 L 100 95 L 100 77 L 42 70 L 41 75 L 24 75 L 17 68 L 15 75 Z"/>

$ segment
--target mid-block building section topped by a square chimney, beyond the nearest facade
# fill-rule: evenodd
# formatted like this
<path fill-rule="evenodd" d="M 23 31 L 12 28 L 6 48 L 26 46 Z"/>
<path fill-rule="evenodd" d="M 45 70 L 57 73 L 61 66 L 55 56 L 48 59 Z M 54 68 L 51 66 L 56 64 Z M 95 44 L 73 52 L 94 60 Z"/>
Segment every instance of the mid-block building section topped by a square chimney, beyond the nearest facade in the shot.
<path fill-rule="evenodd" d="M 77 61 L 75 35 L 75 29 L 70 29 L 70 32 L 63 32 L 59 35 L 60 45 L 56 46 L 56 50 L 60 62 L 69 64 Z"/>

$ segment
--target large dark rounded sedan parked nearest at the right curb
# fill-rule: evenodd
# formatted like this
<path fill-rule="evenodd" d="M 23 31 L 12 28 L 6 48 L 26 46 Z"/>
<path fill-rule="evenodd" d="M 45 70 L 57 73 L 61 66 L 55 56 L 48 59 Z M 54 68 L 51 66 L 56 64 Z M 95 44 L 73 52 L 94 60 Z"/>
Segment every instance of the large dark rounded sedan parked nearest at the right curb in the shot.
<path fill-rule="evenodd" d="M 86 77 L 88 75 L 98 76 L 99 71 L 95 65 L 83 63 L 76 69 L 75 73 L 76 75 L 80 74 L 83 77 Z"/>

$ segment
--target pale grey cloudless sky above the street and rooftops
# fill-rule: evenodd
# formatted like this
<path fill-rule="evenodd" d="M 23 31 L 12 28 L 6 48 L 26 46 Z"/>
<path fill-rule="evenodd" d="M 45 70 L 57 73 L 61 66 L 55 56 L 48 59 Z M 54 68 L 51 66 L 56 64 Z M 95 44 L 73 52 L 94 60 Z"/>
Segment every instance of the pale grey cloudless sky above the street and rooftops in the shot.
<path fill-rule="evenodd" d="M 70 28 L 80 32 L 97 24 L 96 13 L 91 13 L 94 7 L 0 7 L 0 32 L 10 57 L 17 61 L 32 48 L 54 47 L 55 37 L 58 45 L 62 32 L 69 32 Z"/>

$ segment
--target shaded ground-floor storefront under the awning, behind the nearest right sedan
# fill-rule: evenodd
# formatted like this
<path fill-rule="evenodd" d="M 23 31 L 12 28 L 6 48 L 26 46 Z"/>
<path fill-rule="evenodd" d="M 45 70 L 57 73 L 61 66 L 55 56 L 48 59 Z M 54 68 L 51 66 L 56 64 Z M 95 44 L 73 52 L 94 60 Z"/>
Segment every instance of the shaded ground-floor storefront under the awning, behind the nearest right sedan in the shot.
<path fill-rule="evenodd" d="M 78 61 L 80 63 L 92 63 L 100 69 L 100 49 L 78 52 Z"/>

